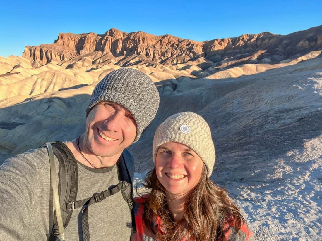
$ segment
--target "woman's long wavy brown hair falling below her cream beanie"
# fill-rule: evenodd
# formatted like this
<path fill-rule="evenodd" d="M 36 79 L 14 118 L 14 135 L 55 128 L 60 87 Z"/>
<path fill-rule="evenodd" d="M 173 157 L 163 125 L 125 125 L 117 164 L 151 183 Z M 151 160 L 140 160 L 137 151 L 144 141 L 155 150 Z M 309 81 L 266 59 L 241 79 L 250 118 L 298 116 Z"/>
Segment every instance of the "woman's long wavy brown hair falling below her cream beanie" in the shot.
<path fill-rule="evenodd" d="M 208 178 L 205 165 L 199 183 L 187 195 L 184 216 L 180 222 L 175 222 L 168 209 L 166 190 L 157 179 L 155 168 L 147 174 L 143 185 L 152 189 L 145 200 L 144 226 L 156 235 L 157 240 L 176 241 L 185 238 L 187 241 L 214 241 L 220 238 L 225 241 L 225 223 L 233 222 L 234 228 L 239 231 L 245 222 L 232 199 L 228 197 L 227 190 L 218 187 Z M 158 232 L 155 226 L 156 217 L 162 219 L 165 232 Z"/>

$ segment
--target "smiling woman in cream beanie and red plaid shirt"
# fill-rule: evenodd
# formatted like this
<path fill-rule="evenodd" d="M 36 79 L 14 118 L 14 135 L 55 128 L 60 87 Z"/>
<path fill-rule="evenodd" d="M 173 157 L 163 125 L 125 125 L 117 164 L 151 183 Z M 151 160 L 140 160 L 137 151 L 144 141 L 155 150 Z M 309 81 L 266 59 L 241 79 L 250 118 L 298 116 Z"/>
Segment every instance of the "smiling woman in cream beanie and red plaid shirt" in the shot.
<path fill-rule="evenodd" d="M 254 240 L 227 191 L 209 176 L 215 149 L 207 122 L 193 112 L 167 118 L 153 140 L 155 168 L 135 199 L 136 232 L 142 240 Z"/>

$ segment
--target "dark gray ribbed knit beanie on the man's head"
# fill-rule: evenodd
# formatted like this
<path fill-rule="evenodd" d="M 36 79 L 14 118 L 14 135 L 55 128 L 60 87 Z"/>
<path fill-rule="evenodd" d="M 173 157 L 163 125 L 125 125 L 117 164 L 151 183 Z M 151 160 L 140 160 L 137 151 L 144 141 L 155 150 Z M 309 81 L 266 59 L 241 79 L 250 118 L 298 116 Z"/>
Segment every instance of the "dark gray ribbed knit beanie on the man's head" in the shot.
<path fill-rule="evenodd" d="M 86 109 L 86 117 L 91 108 L 101 101 L 118 103 L 131 112 L 137 123 L 136 142 L 156 116 L 159 92 L 146 74 L 133 68 L 119 68 L 95 86 Z"/>

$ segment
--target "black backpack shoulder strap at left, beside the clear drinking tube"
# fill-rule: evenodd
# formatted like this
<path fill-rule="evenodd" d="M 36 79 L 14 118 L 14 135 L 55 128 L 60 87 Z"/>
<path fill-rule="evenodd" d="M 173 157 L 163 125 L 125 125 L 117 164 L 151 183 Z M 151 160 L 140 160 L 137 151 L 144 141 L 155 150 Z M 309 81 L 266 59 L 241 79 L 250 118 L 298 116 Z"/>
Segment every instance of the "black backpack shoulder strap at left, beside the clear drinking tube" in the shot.
<path fill-rule="evenodd" d="M 67 203 L 76 201 L 77 197 L 78 168 L 76 160 L 74 159 L 70 149 L 64 143 L 52 142 L 51 145 L 54 155 L 57 157 L 59 163 L 58 193 L 62 212 L 62 221 L 64 228 L 66 228 L 73 211 L 67 208 Z M 53 223 L 53 229 L 49 240 L 55 240 L 56 236 L 59 234 L 55 213 L 52 218 L 53 221 L 50 220 L 50 223 Z"/>

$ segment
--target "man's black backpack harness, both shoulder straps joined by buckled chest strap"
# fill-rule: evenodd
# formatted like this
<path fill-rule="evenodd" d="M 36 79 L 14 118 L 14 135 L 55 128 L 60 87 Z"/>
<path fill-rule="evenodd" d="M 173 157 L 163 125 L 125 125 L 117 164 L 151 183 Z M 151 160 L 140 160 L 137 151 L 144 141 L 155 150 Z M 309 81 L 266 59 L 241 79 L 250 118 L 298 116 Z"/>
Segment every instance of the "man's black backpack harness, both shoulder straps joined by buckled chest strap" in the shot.
<path fill-rule="evenodd" d="M 89 206 L 94 202 L 100 202 L 110 195 L 118 192 L 122 193 L 123 199 L 128 203 L 129 209 L 132 215 L 132 229 L 135 232 L 135 217 L 133 212 L 133 180 L 134 180 L 134 158 L 132 154 L 125 149 L 117 162 L 118 170 L 118 185 L 110 190 L 106 190 L 100 193 L 95 193 L 90 198 L 76 201 L 77 187 L 78 187 L 78 168 L 77 162 L 73 158 L 73 155 L 69 148 L 62 142 L 53 142 L 52 148 L 54 155 L 59 160 L 59 185 L 58 192 L 60 194 L 60 205 L 62 211 L 62 219 L 64 228 L 69 223 L 72 211 L 75 208 L 82 207 L 84 203 Z M 84 240 L 89 240 L 87 208 L 84 209 L 85 213 L 82 213 L 82 225 Z M 56 240 L 56 236 L 59 234 L 56 215 L 54 213 L 54 227 L 49 237 L 49 241 Z M 84 230 L 85 228 L 85 230 Z"/>

